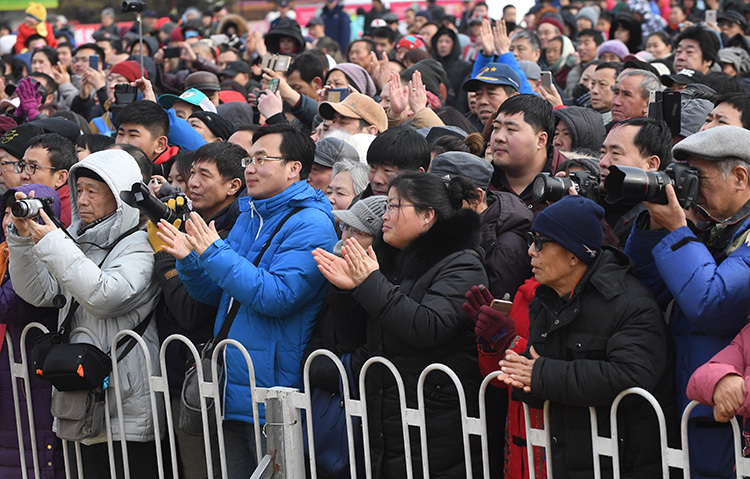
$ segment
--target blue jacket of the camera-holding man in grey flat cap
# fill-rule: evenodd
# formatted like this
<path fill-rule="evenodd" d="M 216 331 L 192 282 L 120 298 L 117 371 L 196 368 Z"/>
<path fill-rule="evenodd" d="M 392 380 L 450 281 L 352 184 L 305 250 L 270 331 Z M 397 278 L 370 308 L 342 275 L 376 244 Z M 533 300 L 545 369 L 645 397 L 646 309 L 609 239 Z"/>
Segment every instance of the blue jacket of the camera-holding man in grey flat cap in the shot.
<path fill-rule="evenodd" d="M 689 402 L 688 379 L 699 366 L 726 347 L 747 324 L 750 306 L 750 220 L 732 238 L 739 247 L 719 264 L 712 252 L 686 226 L 666 230 L 633 228 L 625 252 L 638 265 L 641 280 L 662 307 L 675 299 L 670 329 L 675 343 L 678 407 Z M 713 252 L 716 254 L 717 252 Z M 713 417 L 698 406 L 696 415 Z"/>

